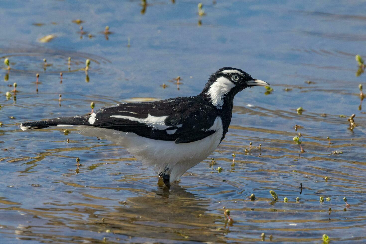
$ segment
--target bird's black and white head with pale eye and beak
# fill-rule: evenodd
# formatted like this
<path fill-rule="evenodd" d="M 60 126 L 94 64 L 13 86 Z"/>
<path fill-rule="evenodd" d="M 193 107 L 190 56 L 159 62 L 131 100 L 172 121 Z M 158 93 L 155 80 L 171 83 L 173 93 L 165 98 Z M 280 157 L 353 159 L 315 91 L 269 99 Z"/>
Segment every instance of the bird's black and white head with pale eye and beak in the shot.
<path fill-rule="evenodd" d="M 221 109 L 224 100 L 233 100 L 243 89 L 251 86 L 270 86 L 263 80 L 253 79 L 248 73 L 231 67 L 224 67 L 214 72 L 201 95 L 210 99 L 213 105 Z"/>

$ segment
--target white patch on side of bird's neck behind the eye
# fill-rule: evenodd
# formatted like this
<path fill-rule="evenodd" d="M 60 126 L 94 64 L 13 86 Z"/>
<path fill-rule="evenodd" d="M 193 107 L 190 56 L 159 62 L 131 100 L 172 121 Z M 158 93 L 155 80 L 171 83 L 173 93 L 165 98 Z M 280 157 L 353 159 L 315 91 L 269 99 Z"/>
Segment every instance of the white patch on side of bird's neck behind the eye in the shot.
<path fill-rule="evenodd" d="M 226 77 L 219 77 L 216 79 L 208 92 L 207 95 L 210 96 L 211 102 L 216 108 L 221 109 L 224 105 L 224 97 L 225 95 L 233 88 L 235 84 Z"/>

